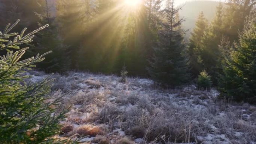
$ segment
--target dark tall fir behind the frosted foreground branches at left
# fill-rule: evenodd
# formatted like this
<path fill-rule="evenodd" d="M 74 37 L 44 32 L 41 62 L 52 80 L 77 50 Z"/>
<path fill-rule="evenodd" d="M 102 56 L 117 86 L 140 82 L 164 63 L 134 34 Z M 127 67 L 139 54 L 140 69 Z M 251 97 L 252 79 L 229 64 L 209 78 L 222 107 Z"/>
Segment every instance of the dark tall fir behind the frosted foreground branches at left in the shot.
<path fill-rule="evenodd" d="M 44 31 L 40 31 L 36 37 L 37 43 L 31 48 L 30 55 L 35 53 L 45 53 L 52 50 L 53 53 L 46 56 L 46 60 L 40 62 L 37 68 L 47 73 L 58 72 L 63 73 L 70 68 L 70 56 L 68 55 L 68 46 L 64 44 L 58 33 L 58 24 L 55 18 L 49 12 L 50 6 L 48 1 L 45 1 L 45 11 L 42 14 L 37 13 L 40 18 L 39 26 L 50 24 Z"/>

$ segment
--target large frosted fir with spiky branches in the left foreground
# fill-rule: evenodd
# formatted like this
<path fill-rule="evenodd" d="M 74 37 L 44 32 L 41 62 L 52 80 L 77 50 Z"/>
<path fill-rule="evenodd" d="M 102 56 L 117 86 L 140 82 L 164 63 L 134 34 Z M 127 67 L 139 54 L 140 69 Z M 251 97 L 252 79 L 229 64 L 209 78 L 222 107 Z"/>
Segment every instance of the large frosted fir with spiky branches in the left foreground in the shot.
<path fill-rule="evenodd" d="M 60 129 L 59 121 L 65 118 L 69 108 L 58 106 L 62 97 L 50 101 L 53 79 L 46 77 L 40 83 L 26 83 L 25 70 L 44 60 L 43 55 L 21 60 L 28 48 L 19 45 L 30 43 L 35 33 L 45 25 L 24 35 L 26 28 L 18 33 L 9 33 L 19 22 L 0 31 L 0 143 L 1 144 L 62 144 L 73 143 L 53 138 Z M 14 37 L 13 40 L 10 40 Z M 12 51 L 15 49 L 16 51 Z M 58 112 L 57 112 L 58 111 Z M 74 142 L 76 143 L 76 142 Z"/>

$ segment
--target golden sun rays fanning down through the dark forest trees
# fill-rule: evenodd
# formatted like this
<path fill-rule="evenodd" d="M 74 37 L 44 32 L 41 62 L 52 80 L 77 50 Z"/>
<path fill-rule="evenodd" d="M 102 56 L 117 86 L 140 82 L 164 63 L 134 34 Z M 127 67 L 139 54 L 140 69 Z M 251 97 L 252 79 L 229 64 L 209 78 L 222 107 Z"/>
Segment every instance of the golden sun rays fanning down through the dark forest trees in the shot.
<path fill-rule="evenodd" d="M 125 63 L 130 74 L 145 76 L 159 11 L 159 0 L 57 1 L 73 68 L 118 73 Z"/>

